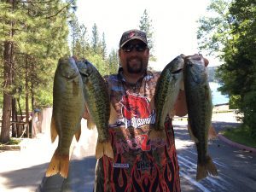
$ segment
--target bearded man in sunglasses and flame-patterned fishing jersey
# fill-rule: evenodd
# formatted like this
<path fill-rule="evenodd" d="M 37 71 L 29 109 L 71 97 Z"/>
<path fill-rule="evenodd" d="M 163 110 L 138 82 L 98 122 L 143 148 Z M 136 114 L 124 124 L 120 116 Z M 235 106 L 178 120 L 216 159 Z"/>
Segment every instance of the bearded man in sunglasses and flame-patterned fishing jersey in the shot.
<path fill-rule="evenodd" d="M 148 58 L 145 32 L 124 32 L 119 42 L 119 73 L 106 78 L 118 114 L 116 123 L 108 127 L 114 157 L 111 160 L 103 156 L 97 161 L 96 192 L 180 191 L 172 117 L 166 117 L 166 139 L 148 139 L 149 125 L 155 118 L 150 102 L 160 77 L 160 73 L 147 70 Z M 175 112 L 178 116 L 187 113 L 183 90 Z M 154 159 L 155 153 L 159 154 L 158 160 Z"/>

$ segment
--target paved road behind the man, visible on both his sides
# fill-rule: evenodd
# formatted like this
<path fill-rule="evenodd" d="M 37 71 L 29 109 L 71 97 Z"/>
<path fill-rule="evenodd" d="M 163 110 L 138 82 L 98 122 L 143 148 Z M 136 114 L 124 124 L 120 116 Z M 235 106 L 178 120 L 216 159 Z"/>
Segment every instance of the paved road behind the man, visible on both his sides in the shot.
<path fill-rule="evenodd" d="M 221 115 L 226 117 L 224 114 Z M 234 123 L 236 120 L 224 117 L 220 119 L 226 121 L 212 119 L 216 131 L 238 125 Z M 256 154 L 231 147 L 219 140 L 209 143 L 209 154 L 218 168 L 218 177 L 207 177 L 201 182 L 196 182 L 197 153 L 195 144 L 189 140 L 186 121 L 175 120 L 173 125 L 183 192 L 256 192 Z M 96 131 L 86 131 L 81 141 L 73 147 L 67 179 L 59 176 L 47 178 L 43 192 L 92 191 L 96 165 L 93 141 L 96 141 Z"/>

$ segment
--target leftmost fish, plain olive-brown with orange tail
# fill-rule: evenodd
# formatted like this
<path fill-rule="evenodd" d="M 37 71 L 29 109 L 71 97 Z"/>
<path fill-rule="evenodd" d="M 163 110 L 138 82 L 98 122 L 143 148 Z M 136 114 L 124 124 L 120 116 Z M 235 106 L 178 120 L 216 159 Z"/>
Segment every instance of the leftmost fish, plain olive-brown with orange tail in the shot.
<path fill-rule="evenodd" d="M 83 81 L 73 58 L 62 57 L 55 70 L 53 112 L 50 123 L 51 142 L 58 136 L 58 146 L 49 162 L 46 177 L 57 173 L 67 178 L 69 150 L 75 135 L 79 141 L 84 113 Z"/>

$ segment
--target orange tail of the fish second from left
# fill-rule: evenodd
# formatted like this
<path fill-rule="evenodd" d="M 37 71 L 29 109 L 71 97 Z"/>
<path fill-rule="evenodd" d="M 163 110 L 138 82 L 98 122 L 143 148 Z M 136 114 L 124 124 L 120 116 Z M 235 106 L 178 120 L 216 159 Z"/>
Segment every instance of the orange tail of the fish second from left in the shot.
<path fill-rule="evenodd" d="M 103 155 L 108 156 L 109 158 L 113 159 L 113 148 L 110 144 L 110 142 L 103 142 L 96 144 L 96 159 L 102 158 Z"/>

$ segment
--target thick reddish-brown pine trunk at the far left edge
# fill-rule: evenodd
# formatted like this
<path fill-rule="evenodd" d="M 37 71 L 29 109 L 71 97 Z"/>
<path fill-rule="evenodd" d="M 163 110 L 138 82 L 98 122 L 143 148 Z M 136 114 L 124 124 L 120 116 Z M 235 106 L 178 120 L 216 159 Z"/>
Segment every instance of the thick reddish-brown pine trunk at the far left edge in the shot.
<path fill-rule="evenodd" d="M 9 89 L 12 84 L 12 67 L 13 67 L 13 42 L 4 42 L 3 50 L 3 121 L 1 129 L 1 143 L 9 142 L 10 117 L 11 117 L 11 101 L 12 96 L 9 94 Z"/>

